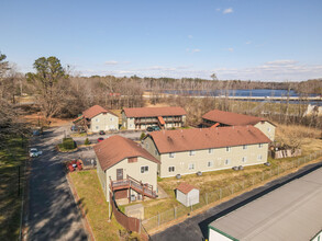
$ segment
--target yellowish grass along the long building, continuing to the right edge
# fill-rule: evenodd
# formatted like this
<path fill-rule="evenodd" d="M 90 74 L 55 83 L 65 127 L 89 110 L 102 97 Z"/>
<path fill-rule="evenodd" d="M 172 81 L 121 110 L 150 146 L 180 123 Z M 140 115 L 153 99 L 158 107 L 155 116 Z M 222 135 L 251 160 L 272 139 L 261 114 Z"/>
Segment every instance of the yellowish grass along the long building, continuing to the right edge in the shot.
<path fill-rule="evenodd" d="M 319 139 L 319 134 L 320 133 L 317 129 L 280 125 L 278 126 L 277 139 L 279 139 L 281 135 L 291 135 L 291 138 L 301 139 L 302 156 L 308 156 L 322 149 L 322 140 Z M 284 138 L 286 138 L 285 136 Z M 270 175 L 271 169 L 277 170 L 277 167 L 279 168 L 280 172 L 282 170 L 289 170 L 292 168 L 292 161 L 297 159 L 298 158 L 285 158 L 278 160 L 269 159 L 268 161 L 271 163 L 271 167 L 269 168 L 265 165 L 253 165 L 246 167 L 243 171 L 238 172 L 233 170 L 222 170 L 206 172 L 202 173 L 202 176 L 197 176 L 196 174 L 184 175 L 180 180 L 177 180 L 176 177 L 159 179 L 158 184 L 168 194 L 169 198 L 147 200 L 142 203 L 145 207 L 145 219 L 180 205 L 175 198 L 174 190 L 181 182 L 187 182 L 195 185 L 200 190 L 201 195 L 211 193 L 214 190 L 224 188 L 234 183 L 248 182 L 249 186 L 249 177 L 260 176 L 262 173 L 268 177 Z M 259 180 L 257 181 L 259 182 Z"/>

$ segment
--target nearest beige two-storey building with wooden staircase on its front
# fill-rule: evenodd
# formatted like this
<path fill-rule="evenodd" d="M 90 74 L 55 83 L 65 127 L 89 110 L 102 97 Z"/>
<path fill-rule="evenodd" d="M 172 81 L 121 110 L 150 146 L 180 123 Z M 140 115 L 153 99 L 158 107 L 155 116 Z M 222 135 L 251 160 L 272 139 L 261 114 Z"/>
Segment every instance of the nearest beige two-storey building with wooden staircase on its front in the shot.
<path fill-rule="evenodd" d="M 159 161 L 138 144 L 112 136 L 95 146 L 97 173 L 107 200 L 110 192 L 115 199 L 156 197 Z"/>

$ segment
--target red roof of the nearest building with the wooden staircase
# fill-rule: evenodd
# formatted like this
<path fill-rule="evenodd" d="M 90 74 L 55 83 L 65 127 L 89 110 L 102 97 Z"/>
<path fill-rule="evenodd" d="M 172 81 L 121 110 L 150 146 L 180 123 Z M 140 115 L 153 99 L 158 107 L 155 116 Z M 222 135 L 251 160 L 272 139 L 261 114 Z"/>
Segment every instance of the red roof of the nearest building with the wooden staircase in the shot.
<path fill-rule="evenodd" d="M 93 147 L 102 170 L 107 170 L 125 158 L 142 157 L 149 161 L 159 161 L 148 153 L 141 145 L 121 136 L 112 136 Z"/>

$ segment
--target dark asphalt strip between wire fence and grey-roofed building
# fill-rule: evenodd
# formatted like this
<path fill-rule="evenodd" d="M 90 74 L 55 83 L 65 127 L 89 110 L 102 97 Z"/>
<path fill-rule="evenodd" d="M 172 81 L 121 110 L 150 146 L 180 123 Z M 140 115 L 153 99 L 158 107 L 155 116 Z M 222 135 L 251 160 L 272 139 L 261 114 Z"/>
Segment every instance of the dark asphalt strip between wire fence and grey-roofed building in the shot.
<path fill-rule="evenodd" d="M 152 237 L 153 241 L 197 241 L 208 239 L 208 225 L 215 219 L 225 216 L 226 214 L 240 208 L 243 205 L 280 187 L 281 185 L 299 179 L 313 170 L 322 168 L 322 163 L 310 164 L 304 167 L 296 173 L 291 173 L 287 176 L 267 183 L 265 186 L 253 190 L 248 193 L 242 194 L 229 202 L 222 203 L 203 214 L 197 215 L 192 218 L 185 220 L 181 223 L 173 226 L 163 232 L 159 232 Z"/>

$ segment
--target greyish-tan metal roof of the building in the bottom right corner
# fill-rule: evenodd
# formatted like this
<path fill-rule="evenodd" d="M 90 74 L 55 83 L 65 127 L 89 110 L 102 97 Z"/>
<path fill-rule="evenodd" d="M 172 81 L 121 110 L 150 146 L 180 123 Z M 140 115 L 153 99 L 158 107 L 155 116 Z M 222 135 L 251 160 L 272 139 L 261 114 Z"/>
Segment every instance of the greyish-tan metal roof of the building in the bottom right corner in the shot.
<path fill-rule="evenodd" d="M 211 222 L 237 240 L 310 240 L 322 229 L 322 169 Z"/>

